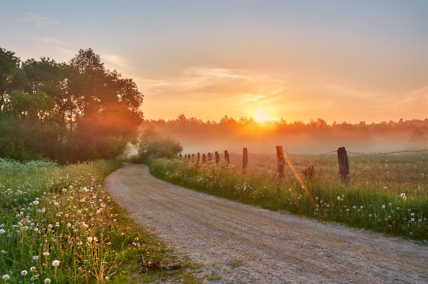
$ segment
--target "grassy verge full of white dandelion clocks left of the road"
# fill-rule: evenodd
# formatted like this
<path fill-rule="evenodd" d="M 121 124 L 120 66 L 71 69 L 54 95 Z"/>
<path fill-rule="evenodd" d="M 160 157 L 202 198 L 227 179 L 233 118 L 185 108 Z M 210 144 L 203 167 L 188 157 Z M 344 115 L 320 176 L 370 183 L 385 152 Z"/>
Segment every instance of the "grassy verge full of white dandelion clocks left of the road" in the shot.
<path fill-rule="evenodd" d="M 0 159 L 0 283 L 200 283 L 195 265 L 110 199 L 104 179 L 120 167 Z M 143 256 L 184 269 L 138 273 Z"/>

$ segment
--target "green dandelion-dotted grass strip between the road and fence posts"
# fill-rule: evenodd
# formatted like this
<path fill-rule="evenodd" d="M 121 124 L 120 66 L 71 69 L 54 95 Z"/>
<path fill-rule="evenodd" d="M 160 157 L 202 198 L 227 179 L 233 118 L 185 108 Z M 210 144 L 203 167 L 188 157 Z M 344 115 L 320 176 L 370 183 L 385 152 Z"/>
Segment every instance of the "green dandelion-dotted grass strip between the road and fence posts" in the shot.
<path fill-rule="evenodd" d="M 154 176 L 196 191 L 388 235 L 428 239 L 425 188 L 416 191 L 409 186 L 406 190 L 402 185 L 386 187 L 378 182 L 344 186 L 340 179 L 322 171 L 300 181 L 292 174 L 281 179 L 269 168 L 253 168 L 242 174 L 233 165 L 184 159 L 154 159 L 149 166 Z"/>

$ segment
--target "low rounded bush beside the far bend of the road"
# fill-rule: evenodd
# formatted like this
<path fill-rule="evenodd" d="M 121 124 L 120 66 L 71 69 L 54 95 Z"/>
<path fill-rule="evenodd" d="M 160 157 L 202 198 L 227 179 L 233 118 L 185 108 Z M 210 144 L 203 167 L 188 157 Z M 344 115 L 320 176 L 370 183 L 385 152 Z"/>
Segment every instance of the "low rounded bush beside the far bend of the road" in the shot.
<path fill-rule="evenodd" d="M 138 154 L 141 161 L 145 162 L 151 156 L 158 158 L 174 158 L 183 151 L 180 142 L 171 136 L 162 135 L 154 126 L 147 127 L 143 131 L 138 143 Z"/>

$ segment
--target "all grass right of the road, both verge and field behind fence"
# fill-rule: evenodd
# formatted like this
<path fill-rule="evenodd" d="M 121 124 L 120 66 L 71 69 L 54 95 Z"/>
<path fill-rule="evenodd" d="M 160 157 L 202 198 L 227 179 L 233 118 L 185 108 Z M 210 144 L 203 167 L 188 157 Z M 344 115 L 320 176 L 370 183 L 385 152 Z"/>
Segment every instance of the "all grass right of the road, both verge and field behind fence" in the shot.
<path fill-rule="evenodd" d="M 214 155 L 211 155 L 214 157 Z M 320 220 L 403 236 L 428 239 L 428 151 L 388 154 L 349 153 L 351 183 L 339 176 L 337 153 L 291 155 L 285 177 L 278 174 L 276 155 L 220 155 L 220 163 L 195 159 L 152 159 L 151 173 L 197 191 L 274 211 L 288 211 Z"/>

